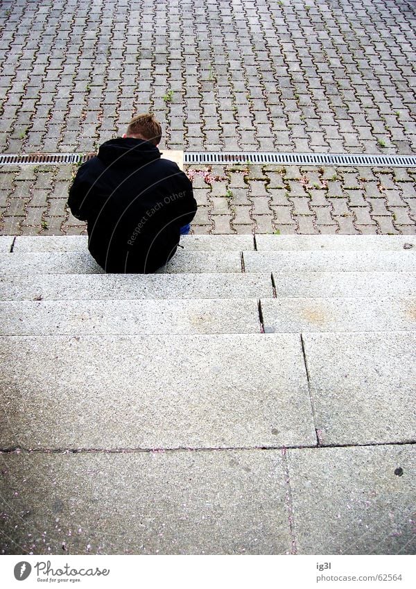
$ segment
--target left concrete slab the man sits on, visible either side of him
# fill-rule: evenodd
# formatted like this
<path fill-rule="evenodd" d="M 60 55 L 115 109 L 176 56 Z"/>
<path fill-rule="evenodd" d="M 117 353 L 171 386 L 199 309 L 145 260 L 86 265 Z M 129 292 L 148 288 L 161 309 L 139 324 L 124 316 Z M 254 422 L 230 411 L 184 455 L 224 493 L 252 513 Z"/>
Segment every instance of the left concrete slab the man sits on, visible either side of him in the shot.
<path fill-rule="evenodd" d="M 240 272 L 239 252 L 191 252 L 180 250 L 157 273 Z M 96 274 L 104 273 L 88 252 L 28 252 L 0 254 L 1 274 Z"/>

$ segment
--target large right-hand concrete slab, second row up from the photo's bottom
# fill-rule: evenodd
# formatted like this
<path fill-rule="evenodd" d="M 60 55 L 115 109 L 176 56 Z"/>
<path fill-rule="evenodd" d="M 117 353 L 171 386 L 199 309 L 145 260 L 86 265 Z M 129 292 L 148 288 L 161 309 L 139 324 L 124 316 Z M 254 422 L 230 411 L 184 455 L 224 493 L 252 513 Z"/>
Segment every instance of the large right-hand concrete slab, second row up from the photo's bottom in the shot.
<path fill-rule="evenodd" d="M 322 445 L 416 441 L 416 334 L 304 334 Z"/>

